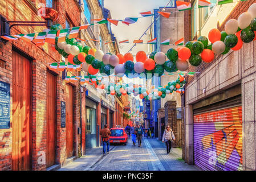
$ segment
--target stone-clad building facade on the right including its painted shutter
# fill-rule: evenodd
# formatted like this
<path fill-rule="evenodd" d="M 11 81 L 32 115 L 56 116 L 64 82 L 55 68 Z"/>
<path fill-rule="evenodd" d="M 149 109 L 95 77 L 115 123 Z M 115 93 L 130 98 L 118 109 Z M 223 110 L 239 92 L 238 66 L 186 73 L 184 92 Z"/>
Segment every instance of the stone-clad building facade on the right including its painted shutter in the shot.
<path fill-rule="evenodd" d="M 256 1 L 185 11 L 185 42 L 224 31 Z M 198 2 L 192 1 L 197 7 Z M 200 30 L 200 31 L 198 31 Z M 185 110 L 185 155 L 189 164 L 204 170 L 255 170 L 255 41 L 243 43 L 212 63 L 189 67 L 200 72 L 188 78 Z"/>

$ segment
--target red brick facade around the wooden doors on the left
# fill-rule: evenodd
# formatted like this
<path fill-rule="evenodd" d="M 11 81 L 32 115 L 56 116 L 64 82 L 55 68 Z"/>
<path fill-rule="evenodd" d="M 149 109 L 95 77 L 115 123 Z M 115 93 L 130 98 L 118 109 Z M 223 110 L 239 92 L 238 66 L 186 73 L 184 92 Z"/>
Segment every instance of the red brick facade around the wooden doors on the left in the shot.
<path fill-rule="evenodd" d="M 7 20 L 27 20 L 27 21 L 43 21 L 37 16 L 38 4 L 45 0 L 21 0 L 21 1 L 0 1 L 0 14 L 5 16 Z M 56 23 L 60 23 L 65 27 L 66 18 L 71 22 L 71 26 L 80 25 L 80 10 L 78 3 L 74 0 L 58 0 L 56 2 L 56 10 L 60 16 Z M 11 35 L 26 34 L 30 32 L 40 32 L 45 26 L 15 26 L 11 29 Z M 10 84 L 10 101 L 11 111 L 13 101 L 13 49 L 18 49 L 18 53 L 22 53 L 32 60 L 32 119 L 31 119 L 31 170 L 45 170 L 46 164 L 38 164 L 40 157 L 39 151 L 46 153 L 46 78 L 49 63 L 60 60 L 60 55 L 56 51 L 52 51 L 50 44 L 46 43 L 43 47 L 36 47 L 33 43 L 23 40 L 14 42 L 0 43 L 0 60 L 5 62 L 5 68 L 0 68 L 2 77 L 0 81 Z M 66 128 L 60 127 L 60 101 L 66 102 L 66 83 L 62 80 L 62 72 L 56 74 L 56 146 L 55 146 L 55 164 L 62 165 L 67 159 L 66 156 Z M 78 73 L 76 73 L 78 74 Z M 72 84 L 73 98 L 73 151 L 74 156 L 79 156 L 80 137 L 78 127 L 80 127 L 80 99 L 82 97 L 82 105 L 85 106 L 86 97 L 85 90 L 80 93 L 80 84 Z M 82 107 L 82 129 L 86 126 L 86 110 Z M 12 133 L 12 112 L 10 129 L 0 130 L 0 170 L 12 170 L 12 151 L 13 151 L 13 133 Z M 99 120 L 100 121 L 100 120 Z M 82 130 L 82 154 L 85 151 L 85 131 Z"/>

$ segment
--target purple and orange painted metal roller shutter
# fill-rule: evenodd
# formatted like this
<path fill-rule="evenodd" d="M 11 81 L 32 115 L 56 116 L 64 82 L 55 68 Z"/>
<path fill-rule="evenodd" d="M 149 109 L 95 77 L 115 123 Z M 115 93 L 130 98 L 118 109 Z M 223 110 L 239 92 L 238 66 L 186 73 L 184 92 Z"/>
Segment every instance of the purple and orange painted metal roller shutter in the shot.
<path fill-rule="evenodd" d="M 232 106 L 222 102 L 222 108 L 219 103 L 217 107 L 212 106 L 211 111 L 210 107 L 209 111 L 194 111 L 196 166 L 214 171 L 242 170 L 242 106 L 237 106 L 239 102 L 230 102 Z"/>

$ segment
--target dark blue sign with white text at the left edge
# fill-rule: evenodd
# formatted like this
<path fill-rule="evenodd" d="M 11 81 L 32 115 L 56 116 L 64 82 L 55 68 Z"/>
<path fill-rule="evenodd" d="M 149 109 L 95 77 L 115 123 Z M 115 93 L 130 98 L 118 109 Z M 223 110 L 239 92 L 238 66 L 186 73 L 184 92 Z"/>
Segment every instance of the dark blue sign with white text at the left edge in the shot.
<path fill-rule="evenodd" d="M 0 129 L 10 128 L 10 84 L 0 81 Z"/>

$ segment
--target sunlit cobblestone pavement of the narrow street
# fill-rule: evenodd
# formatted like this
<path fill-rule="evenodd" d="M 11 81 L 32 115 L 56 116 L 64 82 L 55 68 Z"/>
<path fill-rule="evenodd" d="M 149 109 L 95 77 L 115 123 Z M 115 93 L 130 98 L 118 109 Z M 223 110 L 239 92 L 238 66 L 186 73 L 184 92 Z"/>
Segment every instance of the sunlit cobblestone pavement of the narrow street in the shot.
<path fill-rule="evenodd" d="M 130 138 L 127 146 L 110 146 L 103 155 L 102 147 L 86 151 L 86 155 L 63 166 L 60 171 L 183 171 L 199 170 L 182 160 L 181 148 L 172 148 L 166 154 L 165 144 L 157 139 L 143 139 L 141 147 L 133 146 Z"/>

